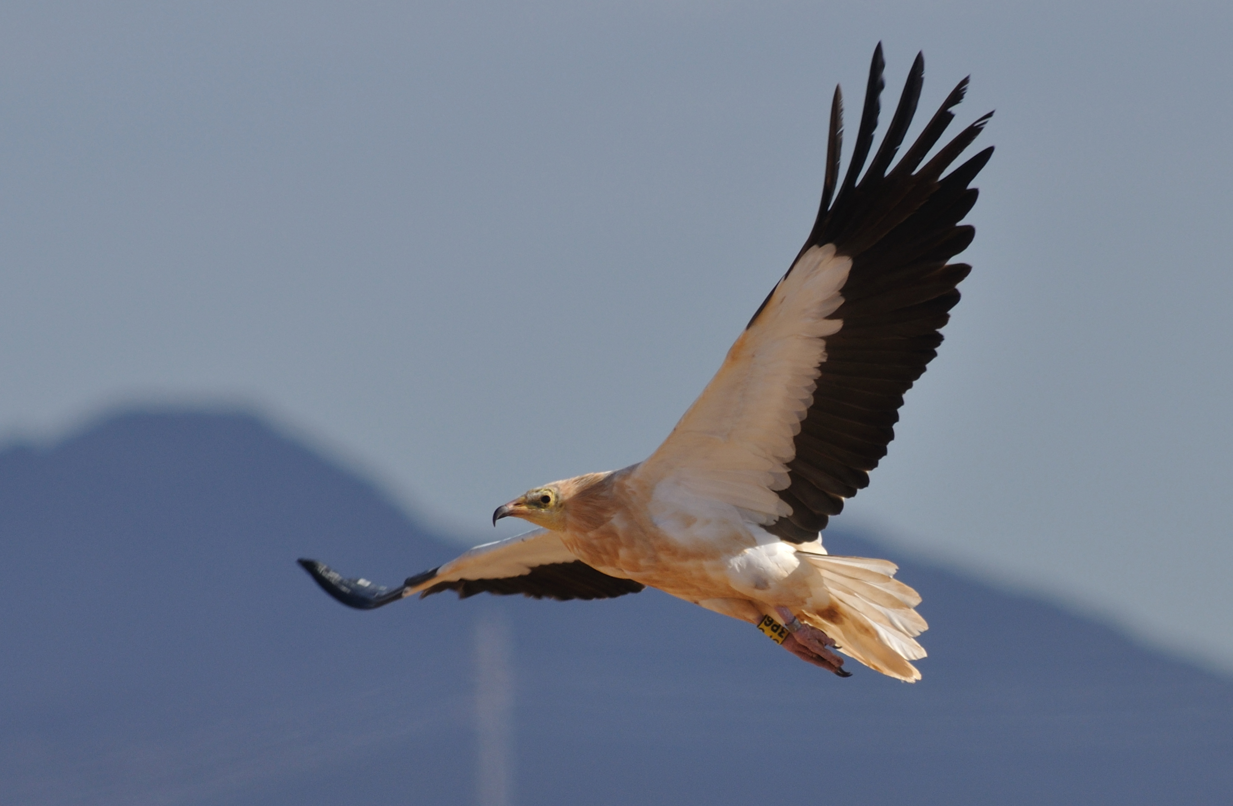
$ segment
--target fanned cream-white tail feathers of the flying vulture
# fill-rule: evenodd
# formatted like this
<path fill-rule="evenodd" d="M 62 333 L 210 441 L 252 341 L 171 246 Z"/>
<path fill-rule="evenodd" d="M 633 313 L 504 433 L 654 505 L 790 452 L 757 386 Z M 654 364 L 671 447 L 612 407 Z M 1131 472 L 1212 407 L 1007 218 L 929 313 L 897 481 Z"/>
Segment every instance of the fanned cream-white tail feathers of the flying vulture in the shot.
<path fill-rule="evenodd" d="M 801 617 L 835 638 L 841 652 L 899 678 L 919 680 L 909 661 L 925 657 L 914 638 L 928 629 L 912 608 L 920 595 L 894 579 L 893 562 L 798 551 L 813 566 L 830 594 L 826 608 L 806 609 Z"/>

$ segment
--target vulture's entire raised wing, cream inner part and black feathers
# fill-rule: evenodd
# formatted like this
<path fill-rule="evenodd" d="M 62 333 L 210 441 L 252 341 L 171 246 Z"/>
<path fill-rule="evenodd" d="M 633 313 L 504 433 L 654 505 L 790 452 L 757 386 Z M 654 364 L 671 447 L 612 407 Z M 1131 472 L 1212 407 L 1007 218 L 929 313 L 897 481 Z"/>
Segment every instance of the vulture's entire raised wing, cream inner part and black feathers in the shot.
<path fill-rule="evenodd" d="M 959 301 L 956 286 L 972 270 L 947 260 L 975 234 L 958 222 L 977 201 L 968 185 L 993 148 L 942 174 L 991 113 L 925 163 L 963 100 L 964 79 L 891 168 L 920 99 L 925 60 L 917 55 L 861 177 L 883 68 L 878 44 L 842 184 L 836 88 L 822 201 L 805 245 L 702 396 L 635 471 L 657 495 L 721 500 L 789 542 L 814 540 L 869 483 L 894 438 L 903 394 L 936 355 L 938 330 Z"/>

